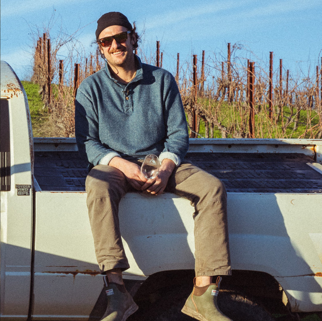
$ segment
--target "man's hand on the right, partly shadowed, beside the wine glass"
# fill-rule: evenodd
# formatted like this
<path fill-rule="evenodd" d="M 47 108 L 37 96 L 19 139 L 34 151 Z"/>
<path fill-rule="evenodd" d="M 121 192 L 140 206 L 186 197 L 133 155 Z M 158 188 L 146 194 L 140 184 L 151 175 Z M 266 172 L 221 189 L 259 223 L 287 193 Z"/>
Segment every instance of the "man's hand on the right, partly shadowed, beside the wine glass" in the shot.
<path fill-rule="evenodd" d="M 171 159 L 164 159 L 159 168 L 159 174 L 154 179 L 149 179 L 141 186 L 141 191 L 153 195 L 161 194 L 166 188 L 169 177 L 175 169 L 175 163 Z"/>

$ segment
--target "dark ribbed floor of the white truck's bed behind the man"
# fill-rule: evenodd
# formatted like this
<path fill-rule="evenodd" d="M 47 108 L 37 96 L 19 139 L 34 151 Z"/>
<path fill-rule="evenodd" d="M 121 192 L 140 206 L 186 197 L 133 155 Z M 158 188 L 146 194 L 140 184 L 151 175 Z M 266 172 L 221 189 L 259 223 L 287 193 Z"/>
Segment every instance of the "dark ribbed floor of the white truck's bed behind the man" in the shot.
<path fill-rule="evenodd" d="M 227 192 L 322 193 L 322 174 L 304 154 L 189 152 L 185 159 L 220 178 Z M 36 151 L 34 175 L 43 191 L 85 191 L 87 164 L 76 151 Z"/>

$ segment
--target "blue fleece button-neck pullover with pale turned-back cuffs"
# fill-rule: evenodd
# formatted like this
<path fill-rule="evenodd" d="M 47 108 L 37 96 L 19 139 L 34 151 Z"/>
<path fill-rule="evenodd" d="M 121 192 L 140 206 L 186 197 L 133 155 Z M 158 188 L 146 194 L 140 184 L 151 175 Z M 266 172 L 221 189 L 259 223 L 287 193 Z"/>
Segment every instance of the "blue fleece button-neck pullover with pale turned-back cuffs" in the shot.
<path fill-rule="evenodd" d="M 175 79 L 135 58 L 137 73 L 127 85 L 115 80 L 106 65 L 79 86 L 75 101 L 79 152 L 93 165 L 108 164 L 115 156 L 148 154 L 179 165 L 189 139 Z"/>

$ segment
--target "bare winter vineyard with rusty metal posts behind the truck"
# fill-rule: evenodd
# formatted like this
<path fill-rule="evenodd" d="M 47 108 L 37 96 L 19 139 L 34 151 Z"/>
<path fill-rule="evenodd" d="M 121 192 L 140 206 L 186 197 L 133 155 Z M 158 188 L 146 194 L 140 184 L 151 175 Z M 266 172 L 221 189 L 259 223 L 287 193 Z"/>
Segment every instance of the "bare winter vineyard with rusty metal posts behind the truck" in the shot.
<path fill-rule="evenodd" d="M 74 136 L 77 88 L 105 65 L 99 52 L 86 56 L 75 50 L 72 39 L 51 42 L 45 32 L 34 45 L 31 80 L 38 85 L 48 114 L 41 126 L 53 126 L 50 135 L 57 137 Z M 63 60 L 58 55 L 62 48 L 68 52 Z M 193 55 L 191 61 L 180 61 L 178 53 L 176 70 L 170 70 L 163 66 L 159 41 L 155 53 L 147 54 L 144 44 L 136 50 L 142 62 L 165 67 L 175 76 L 192 138 L 321 138 L 322 59 L 313 75 L 292 75 L 283 69 L 282 59 L 273 70 L 273 52 L 269 66 L 239 53 L 239 47 L 230 43 L 225 54 L 205 57 L 202 51 L 201 59 Z"/>

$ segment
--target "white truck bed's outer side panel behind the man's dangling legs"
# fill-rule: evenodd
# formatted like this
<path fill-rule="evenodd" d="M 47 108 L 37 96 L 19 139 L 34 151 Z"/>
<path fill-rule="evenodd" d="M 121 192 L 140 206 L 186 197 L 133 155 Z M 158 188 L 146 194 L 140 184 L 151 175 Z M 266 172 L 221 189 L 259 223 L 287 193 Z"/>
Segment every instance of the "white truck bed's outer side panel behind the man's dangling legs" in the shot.
<path fill-rule="evenodd" d="M 233 269 L 274 276 L 293 307 L 301 311 L 312 309 L 312 302 L 317 311 L 322 308 L 321 227 L 316 224 L 321 219 L 316 206 L 319 199 L 318 194 L 228 192 Z M 80 311 L 79 304 L 90 312 L 95 300 L 75 303 L 64 299 L 72 292 L 87 291 L 86 283 L 90 288 L 96 287 L 96 291 L 92 290 L 97 294 L 94 298 L 101 290 L 86 194 L 37 192 L 36 204 L 34 311 L 37 306 L 41 311 L 44 301 L 60 300 L 66 311 L 75 309 L 75 315 Z M 123 244 L 130 263 L 124 277 L 145 279 L 160 271 L 194 269 L 193 212 L 188 200 L 171 193 L 157 198 L 128 193 L 119 209 Z M 310 215 L 303 215 L 305 212 Z M 300 286 L 301 280 L 305 281 Z M 44 283 L 57 284 L 47 297 L 41 291 Z"/>

